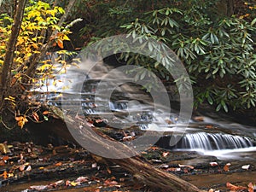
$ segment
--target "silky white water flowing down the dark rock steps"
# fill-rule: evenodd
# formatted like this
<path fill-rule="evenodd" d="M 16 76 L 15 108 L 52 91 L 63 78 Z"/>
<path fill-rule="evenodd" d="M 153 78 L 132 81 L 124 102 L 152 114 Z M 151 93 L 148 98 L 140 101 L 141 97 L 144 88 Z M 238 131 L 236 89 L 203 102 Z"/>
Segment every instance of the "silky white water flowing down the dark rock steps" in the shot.
<path fill-rule="evenodd" d="M 82 64 L 68 69 L 66 75 L 57 76 L 60 84 L 52 85 L 53 80 L 49 79 L 48 86 L 34 89 L 37 99 L 59 107 L 64 104 L 84 118 L 104 119 L 107 125 L 119 129 L 137 126 L 142 131 L 160 131 L 163 136 L 157 145 L 173 151 L 196 151 L 219 159 L 254 158 L 255 127 L 236 124 L 218 115 L 205 116 L 202 122 L 193 119 L 186 122 L 176 110 L 166 113 L 165 106 L 155 110 L 150 94 L 131 83 L 123 73 L 109 76 L 114 66 L 101 61 L 82 61 Z M 125 83 L 115 86 L 122 77 Z M 68 88 L 63 89 L 64 85 Z M 114 87 L 110 96 L 109 87 Z M 39 94 L 44 92 L 51 93 Z M 170 100 L 178 97 L 172 92 L 168 94 Z"/>

